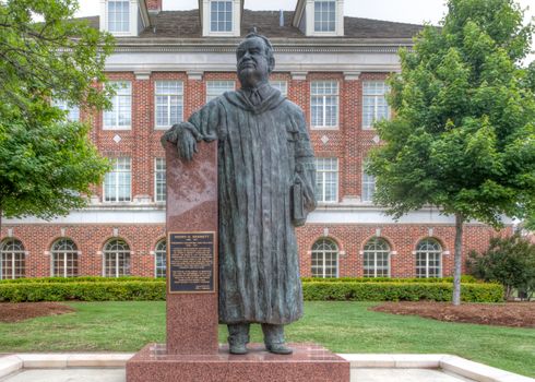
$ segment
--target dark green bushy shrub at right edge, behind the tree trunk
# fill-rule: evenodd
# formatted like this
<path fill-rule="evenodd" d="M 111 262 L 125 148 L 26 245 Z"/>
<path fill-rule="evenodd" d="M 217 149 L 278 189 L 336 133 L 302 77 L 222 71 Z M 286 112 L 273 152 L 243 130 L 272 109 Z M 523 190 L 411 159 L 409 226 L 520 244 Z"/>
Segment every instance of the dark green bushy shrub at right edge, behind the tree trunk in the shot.
<path fill-rule="evenodd" d="M 535 244 L 520 235 L 492 238 L 484 253 L 471 252 L 467 267 L 480 279 L 502 284 L 508 299 L 514 289 L 535 291 Z"/>

